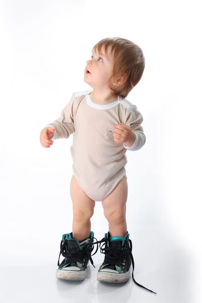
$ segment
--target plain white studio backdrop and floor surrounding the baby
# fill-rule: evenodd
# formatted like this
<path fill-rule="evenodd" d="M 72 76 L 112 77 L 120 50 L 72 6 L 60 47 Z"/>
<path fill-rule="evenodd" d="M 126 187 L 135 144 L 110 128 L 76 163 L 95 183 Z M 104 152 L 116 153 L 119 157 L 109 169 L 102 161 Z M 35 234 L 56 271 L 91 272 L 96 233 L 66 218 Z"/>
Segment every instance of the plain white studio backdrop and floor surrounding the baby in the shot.
<path fill-rule="evenodd" d="M 182 1 L 0 1 L 0 300 L 7 302 L 200 302 L 201 45 L 197 3 Z M 83 81 L 94 44 L 138 44 L 145 70 L 128 95 L 143 115 L 146 144 L 127 151 L 127 224 L 135 280 L 104 285 L 99 250 L 82 282 L 55 277 L 63 233 L 72 231 L 69 139 L 39 134 L 60 117 Z M 198 132 L 198 133 L 197 133 Z M 108 231 L 102 204 L 91 219 Z M 84 286 L 84 287 L 83 287 Z M 122 288 L 123 287 L 123 288 Z M 115 292 L 116 290 L 116 292 Z M 31 294 L 31 295 L 30 295 Z M 29 299 L 28 299 L 29 297 Z"/>

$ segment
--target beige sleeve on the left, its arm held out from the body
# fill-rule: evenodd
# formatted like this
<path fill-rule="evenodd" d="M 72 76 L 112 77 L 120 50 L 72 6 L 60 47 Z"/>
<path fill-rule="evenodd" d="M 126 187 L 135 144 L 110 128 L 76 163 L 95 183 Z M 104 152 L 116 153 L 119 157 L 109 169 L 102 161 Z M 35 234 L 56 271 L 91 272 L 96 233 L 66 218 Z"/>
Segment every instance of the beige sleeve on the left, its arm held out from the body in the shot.
<path fill-rule="evenodd" d="M 72 97 L 69 103 L 64 107 L 61 111 L 61 116 L 54 120 L 51 123 L 48 123 L 45 127 L 53 127 L 55 128 L 53 140 L 68 138 L 71 134 L 74 133 L 74 105 L 75 95 L 72 94 Z"/>

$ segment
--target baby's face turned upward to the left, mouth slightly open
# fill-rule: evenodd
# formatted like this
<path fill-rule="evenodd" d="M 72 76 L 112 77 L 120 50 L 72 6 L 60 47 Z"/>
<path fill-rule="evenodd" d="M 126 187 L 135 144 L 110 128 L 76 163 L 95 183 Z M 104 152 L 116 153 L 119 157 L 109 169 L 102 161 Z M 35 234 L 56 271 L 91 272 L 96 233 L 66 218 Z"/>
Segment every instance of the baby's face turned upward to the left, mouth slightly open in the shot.
<path fill-rule="evenodd" d="M 110 50 L 108 54 L 110 54 Z M 107 56 L 102 48 L 100 54 L 93 51 L 91 60 L 86 63 L 84 81 L 93 89 L 108 89 L 108 81 L 113 71 L 112 55 Z"/>

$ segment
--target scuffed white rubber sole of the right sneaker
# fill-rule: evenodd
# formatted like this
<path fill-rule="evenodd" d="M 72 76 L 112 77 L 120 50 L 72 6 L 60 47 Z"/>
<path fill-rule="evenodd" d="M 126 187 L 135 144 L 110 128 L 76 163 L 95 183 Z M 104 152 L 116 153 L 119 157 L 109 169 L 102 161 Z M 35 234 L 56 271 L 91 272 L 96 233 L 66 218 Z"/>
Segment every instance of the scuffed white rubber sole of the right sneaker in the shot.
<path fill-rule="evenodd" d="M 110 272 L 98 272 L 97 281 L 108 283 L 124 283 L 130 279 L 130 270 L 124 274 L 116 274 Z"/>

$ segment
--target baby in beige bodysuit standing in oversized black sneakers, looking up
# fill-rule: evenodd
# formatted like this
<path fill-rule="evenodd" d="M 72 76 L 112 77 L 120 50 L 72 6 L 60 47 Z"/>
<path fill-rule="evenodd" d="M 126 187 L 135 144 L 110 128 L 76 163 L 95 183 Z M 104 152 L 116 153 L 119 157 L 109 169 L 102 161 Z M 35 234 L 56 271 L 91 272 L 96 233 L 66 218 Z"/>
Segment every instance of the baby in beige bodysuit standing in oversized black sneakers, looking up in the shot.
<path fill-rule="evenodd" d="M 100 40 L 84 71 L 84 81 L 93 89 L 73 93 L 61 117 L 40 133 L 40 143 L 45 148 L 53 140 L 73 134 L 73 225 L 72 232 L 62 236 L 59 260 L 61 254 L 65 259 L 61 264 L 58 260 L 59 279 L 84 280 L 88 262 L 93 265 L 94 244 L 96 253 L 98 243 L 99 247 L 103 243 L 100 252 L 105 254 L 98 281 L 127 282 L 131 263 L 134 271 L 126 224 L 126 151 L 140 149 L 145 144 L 145 134 L 141 113 L 126 97 L 141 79 L 144 66 L 141 48 L 133 42 L 119 37 Z M 109 231 L 102 240 L 93 242 L 96 238 L 90 218 L 95 201 L 102 201 Z M 145 288 L 134 280 L 133 271 L 133 281 Z"/>

